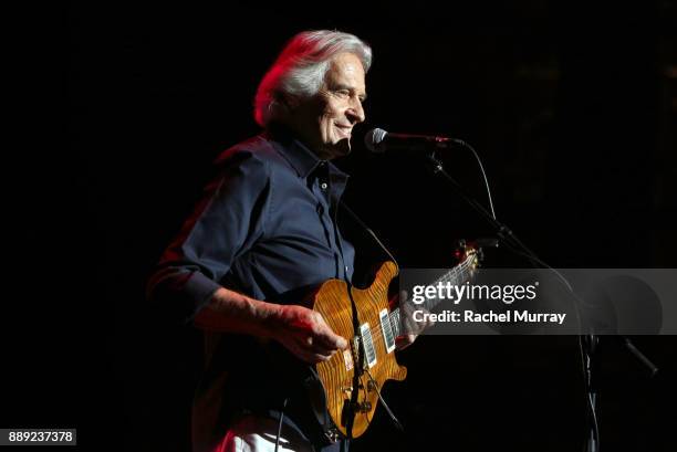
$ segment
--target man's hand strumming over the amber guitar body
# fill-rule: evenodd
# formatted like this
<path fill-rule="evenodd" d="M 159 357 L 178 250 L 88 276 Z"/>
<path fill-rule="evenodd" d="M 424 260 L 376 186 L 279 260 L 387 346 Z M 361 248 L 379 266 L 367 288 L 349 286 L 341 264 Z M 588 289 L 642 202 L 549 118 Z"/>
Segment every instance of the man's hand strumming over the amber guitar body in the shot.
<path fill-rule="evenodd" d="M 330 328 L 320 313 L 308 307 L 279 305 L 269 320 L 271 337 L 306 362 L 326 361 L 348 345 Z"/>

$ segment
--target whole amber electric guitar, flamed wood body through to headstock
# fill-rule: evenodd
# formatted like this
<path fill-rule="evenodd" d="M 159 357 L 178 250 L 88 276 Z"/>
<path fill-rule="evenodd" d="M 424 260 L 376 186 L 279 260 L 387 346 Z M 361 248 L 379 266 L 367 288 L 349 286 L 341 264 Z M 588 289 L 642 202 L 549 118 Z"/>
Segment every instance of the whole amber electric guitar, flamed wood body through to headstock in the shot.
<path fill-rule="evenodd" d="M 462 241 L 456 256 L 460 263 L 435 284 L 458 285 L 468 281 L 481 259 L 481 251 Z M 350 344 L 346 350 L 316 364 L 313 378 L 305 380 L 312 381 L 306 383 L 311 404 L 325 437 L 331 440 L 338 434 L 362 435 L 374 417 L 383 385 L 387 380 L 402 381 L 407 376 L 407 369 L 395 359 L 395 337 L 403 330 L 400 309 L 390 311 L 388 303 L 388 286 L 397 272 L 395 263 L 385 262 L 368 288 L 348 287 L 344 281 L 329 280 L 312 297 L 313 309 Z M 439 299 L 431 299 L 424 307 L 430 311 L 437 303 Z M 327 413 L 331 421 L 326 419 Z"/>

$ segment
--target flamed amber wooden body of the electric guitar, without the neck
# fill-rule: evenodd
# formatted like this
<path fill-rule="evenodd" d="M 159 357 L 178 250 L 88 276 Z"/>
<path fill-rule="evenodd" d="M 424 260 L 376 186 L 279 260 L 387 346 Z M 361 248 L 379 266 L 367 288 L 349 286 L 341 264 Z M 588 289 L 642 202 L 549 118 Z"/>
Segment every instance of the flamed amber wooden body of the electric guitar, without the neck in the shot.
<path fill-rule="evenodd" d="M 353 327 L 353 308 L 344 281 L 326 281 L 314 295 L 313 309 L 322 314 L 334 333 L 350 343 L 348 349 L 316 365 L 326 409 L 338 432 L 345 437 L 357 438 L 366 431 L 385 381 L 402 381 L 407 376 L 407 369 L 395 359 L 392 320 L 389 316 L 384 317 L 384 312 L 389 313 L 388 286 L 396 275 L 397 266 L 385 262 L 368 288 L 351 287 L 357 307 L 358 330 Z M 383 325 L 384 320 L 387 325 Z M 363 358 L 362 366 L 357 366 L 360 358 Z M 364 371 L 355 375 L 360 368 Z"/>

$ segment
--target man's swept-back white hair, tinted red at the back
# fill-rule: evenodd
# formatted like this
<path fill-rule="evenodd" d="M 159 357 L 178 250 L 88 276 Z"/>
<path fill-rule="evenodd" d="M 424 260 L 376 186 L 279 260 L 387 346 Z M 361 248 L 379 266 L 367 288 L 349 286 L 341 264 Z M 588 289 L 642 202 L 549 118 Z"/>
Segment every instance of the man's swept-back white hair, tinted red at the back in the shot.
<path fill-rule="evenodd" d="M 306 99 L 320 91 L 332 59 L 353 53 L 366 73 L 372 65 L 372 49 L 354 34 L 340 31 L 304 31 L 289 41 L 261 80 L 254 97 L 254 119 L 265 127 L 282 117 L 289 99 Z"/>

